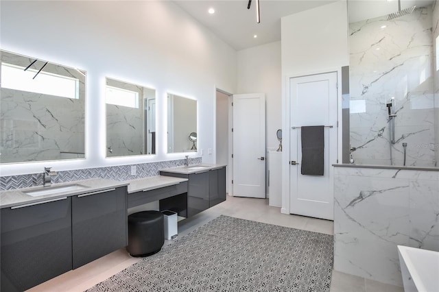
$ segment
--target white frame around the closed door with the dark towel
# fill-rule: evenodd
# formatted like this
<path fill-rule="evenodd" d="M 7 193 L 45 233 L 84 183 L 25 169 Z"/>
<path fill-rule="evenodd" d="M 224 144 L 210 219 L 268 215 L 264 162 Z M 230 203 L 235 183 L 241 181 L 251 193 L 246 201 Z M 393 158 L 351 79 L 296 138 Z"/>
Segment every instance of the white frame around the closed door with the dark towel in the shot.
<path fill-rule="evenodd" d="M 291 182 L 289 180 L 290 178 L 290 165 L 289 161 L 292 159 L 289 154 L 289 147 L 290 147 L 290 131 L 289 131 L 289 125 L 291 121 L 290 117 L 290 97 L 289 97 L 289 90 L 290 90 L 290 82 L 292 78 L 297 77 L 305 77 L 309 75 L 318 75 L 318 74 L 324 74 L 324 73 L 337 73 L 337 163 L 341 163 L 342 158 L 342 67 L 337 68 L 329 68 L 329 69 L 322 69 L 318 71 L 307 71 L 307 72 L 298 72 L 298 73 L 292 73 L 291 75 L 284 75 L 283 76 L 283 82 L 285 82 L 282 86 L 282 143 L 283 143 L 283 149 L 285 151 L 282 151 L 282 207 L 281 207 L 281 213 L 283 214 L 290 214 L 290 186 Z"/>

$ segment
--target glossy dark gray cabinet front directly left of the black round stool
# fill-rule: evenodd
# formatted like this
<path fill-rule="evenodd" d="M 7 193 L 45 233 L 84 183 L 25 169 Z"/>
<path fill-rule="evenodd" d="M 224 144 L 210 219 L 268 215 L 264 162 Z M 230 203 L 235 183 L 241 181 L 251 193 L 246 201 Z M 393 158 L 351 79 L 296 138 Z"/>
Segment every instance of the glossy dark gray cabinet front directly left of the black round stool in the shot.
<path fill-rule="evenodd" d="M 73 269 L 127 245 L 126 186 L 72 197 Z"/>

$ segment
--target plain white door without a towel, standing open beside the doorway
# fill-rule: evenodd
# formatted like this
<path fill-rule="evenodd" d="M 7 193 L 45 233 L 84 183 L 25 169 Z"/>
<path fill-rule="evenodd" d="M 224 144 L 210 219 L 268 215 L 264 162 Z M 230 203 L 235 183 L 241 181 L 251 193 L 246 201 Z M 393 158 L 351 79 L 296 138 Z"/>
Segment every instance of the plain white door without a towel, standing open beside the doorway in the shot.
<path fill-rule="evenodd" d="M 265 95 L 233 95 L 233 196 L 265 198 Z"/>

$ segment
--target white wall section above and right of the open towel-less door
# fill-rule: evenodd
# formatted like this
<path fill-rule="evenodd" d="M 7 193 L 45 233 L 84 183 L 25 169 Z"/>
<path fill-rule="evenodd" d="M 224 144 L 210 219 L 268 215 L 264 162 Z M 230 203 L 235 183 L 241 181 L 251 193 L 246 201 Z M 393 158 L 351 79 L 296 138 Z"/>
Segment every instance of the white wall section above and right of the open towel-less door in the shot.
<path fill-rule="evenodd" d="M 278 147 L 276 131 L 282 127 L 281 42 L 237 53 L 237 92 L 265 93 L 265 146 Z"/>

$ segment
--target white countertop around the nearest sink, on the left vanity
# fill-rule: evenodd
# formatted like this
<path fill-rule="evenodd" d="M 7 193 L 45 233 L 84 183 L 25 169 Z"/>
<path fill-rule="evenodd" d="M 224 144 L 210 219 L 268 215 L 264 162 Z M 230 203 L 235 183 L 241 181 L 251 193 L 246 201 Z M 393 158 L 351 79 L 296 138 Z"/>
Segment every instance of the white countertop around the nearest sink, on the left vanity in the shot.
<path fill-rule="evenodd" d="M 102 191 L 108 188 L 117 188 L 119 186 L 127 186 L 129 182 L 119 182 L 117 180 L 106 180 L 104 178 L 92 178 L 90 180 L 79 180 L 76 182 L 61 182 L 59 184 L 51 184 L 46 188 L 51 188 L 54 186 L 67 186 L 71 184 L 81 184 L 86 186 L 80 190 L 75 191 L 65 191 L 62 193 L 56 193 L 51 195 L 42 195 L 39 197 L 32 197 L 26 195 L 24 192 L 38 190 L 44 188 L 43 186 L 32 186 L 30 188 L 17 188 L 10 191 L 0 191 L 0 208 L 9 208 L 14 206 L 19 206 L 23 204 L 30 204 L 34 202 L 43 202 L 48 199 L 56 199 L 59 197 L 71 197 L 73 195 L 79 195 L 83 193 L 91 193 L 95 191 Z"/>

